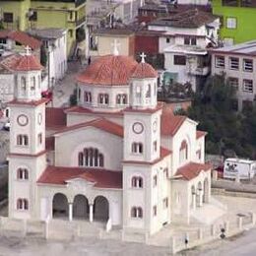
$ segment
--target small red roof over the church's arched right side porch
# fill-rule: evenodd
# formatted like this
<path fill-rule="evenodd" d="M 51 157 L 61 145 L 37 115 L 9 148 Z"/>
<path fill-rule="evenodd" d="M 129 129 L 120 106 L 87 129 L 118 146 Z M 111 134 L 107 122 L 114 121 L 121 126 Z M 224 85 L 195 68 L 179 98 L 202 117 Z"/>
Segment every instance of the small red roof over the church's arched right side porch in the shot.
<path fill-rule="evenodd" d="M 201 171 L 207 171 L 212 168 L 209 163 L 189 162 L 177 169 L 175 176 L 181 175 L 185 180 L 191 180 L 199 175 Z"/>

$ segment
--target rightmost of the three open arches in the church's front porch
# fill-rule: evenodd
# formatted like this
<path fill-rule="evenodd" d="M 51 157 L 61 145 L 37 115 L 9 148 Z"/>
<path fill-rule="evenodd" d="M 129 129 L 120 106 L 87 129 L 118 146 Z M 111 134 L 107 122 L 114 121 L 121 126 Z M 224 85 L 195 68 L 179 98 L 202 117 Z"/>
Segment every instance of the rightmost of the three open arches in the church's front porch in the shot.
<path fill-rule="evenodd" d="M 94 219 L 96 221 L 107 221 L 109 218 L 109 204 L 105 197 L 97 196 L 94 204 Z"/>

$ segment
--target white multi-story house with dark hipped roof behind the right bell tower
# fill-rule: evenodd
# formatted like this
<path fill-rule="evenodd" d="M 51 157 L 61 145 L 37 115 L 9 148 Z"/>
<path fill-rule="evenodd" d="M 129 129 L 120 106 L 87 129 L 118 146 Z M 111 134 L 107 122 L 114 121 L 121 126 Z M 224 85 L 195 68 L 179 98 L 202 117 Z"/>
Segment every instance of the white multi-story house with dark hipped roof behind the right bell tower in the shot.
<path fill-rule="evenodd" d="M 218 45 L 219 18 L 198 9 L 180 12 L 149 24 L 160 35 L 164 83 L 189 83 L 196 91 L 210 73 L 207 48 Z"/>

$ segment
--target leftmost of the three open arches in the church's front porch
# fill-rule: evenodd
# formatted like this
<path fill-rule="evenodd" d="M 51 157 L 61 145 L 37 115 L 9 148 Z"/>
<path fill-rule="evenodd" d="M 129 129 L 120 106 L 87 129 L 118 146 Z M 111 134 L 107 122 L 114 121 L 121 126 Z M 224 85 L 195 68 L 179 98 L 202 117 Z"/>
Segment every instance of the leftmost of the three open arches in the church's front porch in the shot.
<path fill-rule="evenodd" d="M 52 217 L 53 218 L 68 218 L 69 207 L 68 199 L 62 193 L 54 195 L 52 200 Z"/>

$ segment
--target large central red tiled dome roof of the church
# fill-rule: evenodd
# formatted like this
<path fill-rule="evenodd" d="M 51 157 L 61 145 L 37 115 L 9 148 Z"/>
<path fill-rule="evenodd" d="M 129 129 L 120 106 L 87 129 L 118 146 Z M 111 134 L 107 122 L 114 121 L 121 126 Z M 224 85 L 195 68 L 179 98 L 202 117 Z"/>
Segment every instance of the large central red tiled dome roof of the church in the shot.
<path fill-rule="evenodd" d="M 77 81 L 86 85 L 128 85 L 137 65 L 131 57 L 105 55 L 96 59 L 77 77 Z"/>

